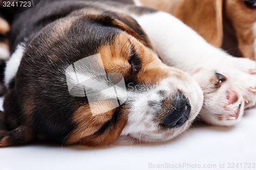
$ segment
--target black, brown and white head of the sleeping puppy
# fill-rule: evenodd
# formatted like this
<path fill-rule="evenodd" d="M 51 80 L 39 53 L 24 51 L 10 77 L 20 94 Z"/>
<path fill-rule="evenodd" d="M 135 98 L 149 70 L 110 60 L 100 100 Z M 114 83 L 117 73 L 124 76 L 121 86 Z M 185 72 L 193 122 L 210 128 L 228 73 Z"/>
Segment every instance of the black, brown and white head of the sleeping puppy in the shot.
<path fill-rule="evenodd" d="M 53 129 L 70 125 L 62 129 L 66 144 L 169 140 L 201 109 L 196 81 L 163 64 L 135 20 L 116 16 L 60 19 L 34 38 L 22 60 L 16 86 L 26 87 L 28 112 L 44 115 Z"/>

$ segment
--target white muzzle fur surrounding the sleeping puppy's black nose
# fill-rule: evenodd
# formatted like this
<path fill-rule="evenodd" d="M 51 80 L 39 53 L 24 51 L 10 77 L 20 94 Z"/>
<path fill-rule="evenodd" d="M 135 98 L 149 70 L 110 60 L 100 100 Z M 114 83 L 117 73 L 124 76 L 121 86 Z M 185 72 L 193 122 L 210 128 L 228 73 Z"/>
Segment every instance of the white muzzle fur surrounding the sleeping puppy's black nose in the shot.
<path fill-rule="evenodd" d="M 158 123 L 154 123 L 152 120 L 156 116 L 154 112 L 156 110 L 162 110 L 163 108 L 161 108 L 160 105 L 159 108 L 156 108 L 157 106 L 152 108 L 148 105 L 148 102 L 156 101 L 160 103 L 161 100 L 166 99 L 166 96 L 176 94 L 178 89 L 184 92 L 190 102 L 192 108 L 190 118 L 180 128 L 157 133 L 159 125 Z M 166 92 L 165 96 L 160 96 L 157 93 L 160 90 Z M 156 142 L 172 139 L 189 127 L 202 107 L 203 93 L 195 80 L 187 77 L 186 81 L 184 81 L 175 76 L 171 76 L 162 80 L 155 88 L 147 89 L 143 93 L 137 93 L 132 99 L 133 102 L 128 116 L 128 122 L 126 127 L 123 129 L 121 136 L 129 135 L 139 141 Z M 173 100 L 175 100 L 175 98 Z"/>

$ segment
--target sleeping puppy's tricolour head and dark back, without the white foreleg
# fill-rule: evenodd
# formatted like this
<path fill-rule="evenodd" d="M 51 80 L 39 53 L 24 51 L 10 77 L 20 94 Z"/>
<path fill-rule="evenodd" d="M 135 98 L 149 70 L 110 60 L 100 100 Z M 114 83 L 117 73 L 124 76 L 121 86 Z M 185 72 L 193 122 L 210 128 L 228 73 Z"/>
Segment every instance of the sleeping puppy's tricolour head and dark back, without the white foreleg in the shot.
<path fill-rule="evenodd" d="M 120 135 L 157 142 L 189 127 L 202 90 L 162 63 L 138 23 L 111 10 L 119 6 L 41 1 L 14 17 L 1 147 L 34 139 L 95 147 Z"/>

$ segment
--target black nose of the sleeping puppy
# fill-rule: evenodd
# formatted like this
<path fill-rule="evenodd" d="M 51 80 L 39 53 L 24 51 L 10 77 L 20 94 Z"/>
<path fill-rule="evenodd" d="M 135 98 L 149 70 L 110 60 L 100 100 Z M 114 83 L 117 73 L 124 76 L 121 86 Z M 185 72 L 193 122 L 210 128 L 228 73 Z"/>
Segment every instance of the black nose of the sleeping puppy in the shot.
<path fill-rule="evenodd" d="M 175 110 L 168 113 L 164 118 L 162 125 L 167 128 L 181 127 L 188 119 L 191 106 L 188 99 L 181 92 L 176 96 Z"/>

